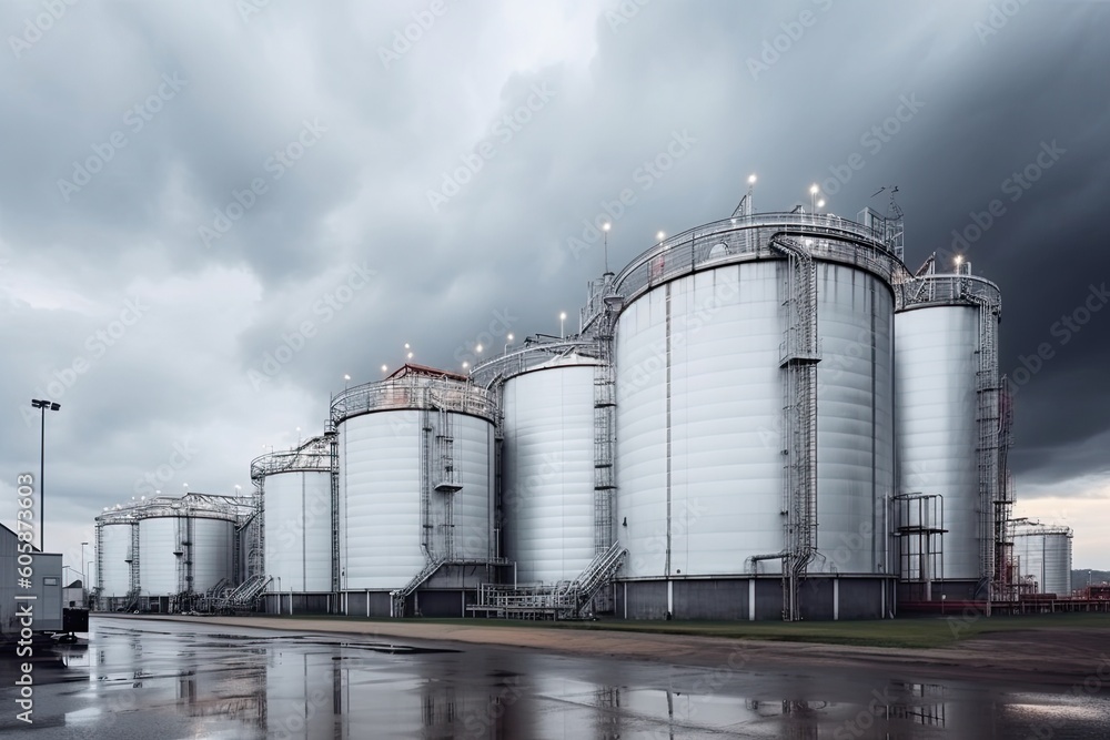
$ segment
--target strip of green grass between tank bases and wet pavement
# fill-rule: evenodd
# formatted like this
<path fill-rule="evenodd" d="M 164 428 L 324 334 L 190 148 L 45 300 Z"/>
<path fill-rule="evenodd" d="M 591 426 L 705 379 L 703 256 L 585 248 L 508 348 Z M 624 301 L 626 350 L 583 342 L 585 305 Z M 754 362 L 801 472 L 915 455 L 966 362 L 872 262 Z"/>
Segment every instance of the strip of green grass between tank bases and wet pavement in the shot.
<path fill-rule="evenodd" d="M 266 618 L 266 617 L 260 617 Z M 285 616 L 284 619 L 291 617 Z M 365 619 L 296 615 L 301 619 L 334 619 L 360 622 L 398 624 L 395 619 Z M 1110 615 L 1064 614 L 1036 616 L 906 617 L 874 621 L 778 622 L 778 621 L 516 621 L 506 619 L 407 619 L 404 624 L 458 625 L 471 627 L 511 627 L 516 629 L 558 628 L 698 635 L 733 639 L 785 640 L 894 648 L 946 648 L 960 640 L 987 632 L 1027 629 L 1110 628 Z"/>

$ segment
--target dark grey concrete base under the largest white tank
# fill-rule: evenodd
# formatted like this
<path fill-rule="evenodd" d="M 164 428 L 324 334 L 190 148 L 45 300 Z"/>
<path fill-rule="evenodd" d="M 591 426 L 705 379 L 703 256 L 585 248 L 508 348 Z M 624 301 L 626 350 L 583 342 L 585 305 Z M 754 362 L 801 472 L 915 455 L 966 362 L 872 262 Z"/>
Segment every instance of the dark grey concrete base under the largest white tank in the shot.
<path fill-rule="evenodd" d="M 799 588 L 801 618 L 886 619 L 895 614 L 895 579 L 814 576 Z M 779 576 L 622 580 L 613 586 L 614 616 L 624 619 L 783 619 Z"/>

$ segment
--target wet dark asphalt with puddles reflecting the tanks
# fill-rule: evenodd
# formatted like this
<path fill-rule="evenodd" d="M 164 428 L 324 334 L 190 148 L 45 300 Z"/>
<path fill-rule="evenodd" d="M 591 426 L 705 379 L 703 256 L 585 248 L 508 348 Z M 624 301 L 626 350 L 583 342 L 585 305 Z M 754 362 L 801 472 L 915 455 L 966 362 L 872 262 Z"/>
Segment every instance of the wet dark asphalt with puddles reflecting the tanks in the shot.
<path fill-rule="evenodd" d="M 1110 690 L 915 682 L 901 670 L 758 671 L 457 642 L 97 617 L 40 646 L 33 723 L 22 659 L 0 658 L 0 736 L 111 738 L 1110 737 Z M 896 675 L 897 673 L 897 675 Z"/>

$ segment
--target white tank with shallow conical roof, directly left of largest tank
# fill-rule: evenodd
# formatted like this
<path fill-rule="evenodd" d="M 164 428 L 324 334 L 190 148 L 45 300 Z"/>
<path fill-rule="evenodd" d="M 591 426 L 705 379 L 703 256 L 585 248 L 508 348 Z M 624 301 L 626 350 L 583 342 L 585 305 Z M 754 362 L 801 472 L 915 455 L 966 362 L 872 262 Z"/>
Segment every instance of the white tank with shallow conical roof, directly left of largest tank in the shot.
<path fill-rule="evenodd" d="M 573 344 L 521 351 L 501 389 L 505 557 L 518 582 L 574 579 L 596 555 L 598 537 L 612 541 L 612 523 L 595 517 L 598 361 Z M 494 363 L 512 365 L 514 354 Z"/>

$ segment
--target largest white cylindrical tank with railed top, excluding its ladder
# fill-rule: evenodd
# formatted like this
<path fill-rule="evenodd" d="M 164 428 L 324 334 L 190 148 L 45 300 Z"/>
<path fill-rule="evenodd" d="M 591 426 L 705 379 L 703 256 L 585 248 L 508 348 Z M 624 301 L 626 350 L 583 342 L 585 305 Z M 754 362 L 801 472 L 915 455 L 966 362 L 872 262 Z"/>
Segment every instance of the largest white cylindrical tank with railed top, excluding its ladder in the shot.
<path fill-rule="evenodd" d="M 622 576 L 780 571 L 781 559 L 748 561 L 789 547 L 784 407 L 798 396 L 783 364 L 796 295 L 790 263 L 768 245 L 777 234 L 800 240 L 816 264 L 818 526 L 808 572 L 889 571 L 895 260 L 856 226 L 791 214 L 709 224 L 618 275 Z"/>

